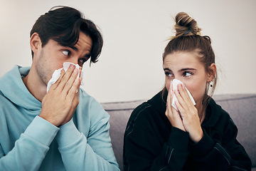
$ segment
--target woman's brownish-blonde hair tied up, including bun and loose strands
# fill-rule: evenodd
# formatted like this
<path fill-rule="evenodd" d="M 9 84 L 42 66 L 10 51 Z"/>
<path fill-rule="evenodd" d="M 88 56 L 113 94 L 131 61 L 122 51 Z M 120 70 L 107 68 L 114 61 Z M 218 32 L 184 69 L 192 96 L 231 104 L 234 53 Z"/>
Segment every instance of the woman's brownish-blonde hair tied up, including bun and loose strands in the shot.
<path fill-rule="evenodd" d="M 200 61 L 205 66 L 206 72 L 214 75 L 212 83 L 207 84 L 206 93 L 203 97 L 203 106 L 206 107 L 217 83 L 217 72 L 210 69 L 210 65 L 215 63 L 215 54 L 210 45 L 210 37 L 201 36 L 201 28 L 198 28 L 197 22 L 185 12 L 178 13 L 175 21 L 176 35 L 169 39 L 169 43 L 164 49 L 163 63 L 164 58 L 170 53 L 178 51 L 196 52 L 198 58 L 200 58 Z M 210 85 L 212 86 L 211 88 L 209 88 Z M 209 89 L 211 89 L 210 93 L 208 92 Z M 163 95 L 164 93 L 166 93 L 166 87 L 164 87 Z"/>

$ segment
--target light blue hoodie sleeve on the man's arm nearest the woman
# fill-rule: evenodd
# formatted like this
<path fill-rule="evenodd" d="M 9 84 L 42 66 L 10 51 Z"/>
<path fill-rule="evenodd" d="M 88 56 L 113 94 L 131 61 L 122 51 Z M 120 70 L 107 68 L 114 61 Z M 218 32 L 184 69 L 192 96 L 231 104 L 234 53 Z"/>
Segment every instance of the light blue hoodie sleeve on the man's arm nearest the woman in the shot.
<path fill-rule="evenodd" d="M 93 118 L 90 120 L 89 135 L 81 133 L 73 119 L 60 127 L 56 135 L 66 170 L 116 170 L 118 164 L 114 157 L 109 133 L 110 116 L 95 100 L 90 105 Z M 86 125 L 81 125 L 86 127 Z M 72 158 L 73 160 L 70 160 Z"/>

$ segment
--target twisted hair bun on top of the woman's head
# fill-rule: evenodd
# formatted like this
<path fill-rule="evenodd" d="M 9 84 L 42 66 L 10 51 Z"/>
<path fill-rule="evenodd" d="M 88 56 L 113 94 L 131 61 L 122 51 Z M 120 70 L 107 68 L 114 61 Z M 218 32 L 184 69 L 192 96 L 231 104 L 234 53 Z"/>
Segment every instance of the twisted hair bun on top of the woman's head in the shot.
<path fill-rule="evenodd" d="M 175 17 L 176 36 L 201 35 L 201 28 L 198 28 L 196 21 L 185 12 L 179 12 Z"/>

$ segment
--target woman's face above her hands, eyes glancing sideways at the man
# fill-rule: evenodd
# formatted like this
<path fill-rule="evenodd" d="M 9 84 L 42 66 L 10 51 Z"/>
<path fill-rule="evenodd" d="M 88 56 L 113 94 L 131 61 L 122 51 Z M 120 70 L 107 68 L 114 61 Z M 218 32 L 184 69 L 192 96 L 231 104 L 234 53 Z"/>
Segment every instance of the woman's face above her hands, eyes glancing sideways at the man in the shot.
<path fill-rule="evenodd" d="M 206 84 L 213 80 L 213 76 L 206 72 L 203 63 L 193 51 L 178 51 L 167 55 L 164 58 L 164 73 L 167 90 L 171 81 L 176 78 L 185 84 L 196 104 L 202 104 Z"/>

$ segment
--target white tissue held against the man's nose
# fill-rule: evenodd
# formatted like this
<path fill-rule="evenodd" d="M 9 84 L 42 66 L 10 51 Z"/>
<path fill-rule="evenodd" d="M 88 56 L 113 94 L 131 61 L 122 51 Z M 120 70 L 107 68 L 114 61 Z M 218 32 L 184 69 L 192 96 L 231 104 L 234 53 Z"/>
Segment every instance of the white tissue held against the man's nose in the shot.
<path fill-rule="evenodd" d="M 68 70 L 70 64 L 73 64 L 75 66 L 75 69 L 79 69 L 78 64 L 70 63 L 70 62 L 63 63 L 63 68 L 59 68 L 58 70 L 54 71 L 52 78 L 50 78 L 50 81 L 47 84 L 46 92 L 48 92 L 48 90 L 50 89 L 50 86 L 52 86 L 58 80 L 58 78 L 60 78 L 61 70 L 64 69 L 64 71 L 66 72 Z M 80 73 L 78 73 L 77 78 L 79 78 L 79 76 L 80 76 Z"/>

